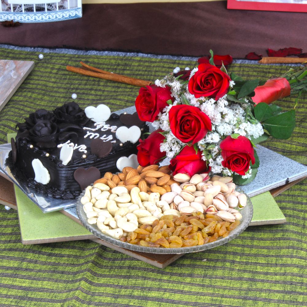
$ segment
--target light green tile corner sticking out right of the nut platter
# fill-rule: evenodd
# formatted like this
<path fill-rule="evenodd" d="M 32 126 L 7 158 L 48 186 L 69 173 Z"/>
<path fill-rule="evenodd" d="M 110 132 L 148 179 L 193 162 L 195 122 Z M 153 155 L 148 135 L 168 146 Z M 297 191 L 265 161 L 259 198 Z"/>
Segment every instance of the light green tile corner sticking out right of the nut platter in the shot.
<path fill-rule="evenodd" d="M 254 212 L 250 226 L 282 224 L 286 222 L 285 216 L 270 192 L 251 197 L 251 202 Z"/>

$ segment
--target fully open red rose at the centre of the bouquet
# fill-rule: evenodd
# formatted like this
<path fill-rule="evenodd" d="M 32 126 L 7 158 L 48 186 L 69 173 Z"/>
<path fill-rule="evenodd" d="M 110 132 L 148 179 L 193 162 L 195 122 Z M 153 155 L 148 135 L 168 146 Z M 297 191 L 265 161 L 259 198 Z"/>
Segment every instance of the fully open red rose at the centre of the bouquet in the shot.
<path fill-rule="evenodd" d="M 211 121 L 204 112 L 186 104 L 171 107 L 169 123 L 175 137 L 184 143 L 197 143 L 212 129 Z"/>

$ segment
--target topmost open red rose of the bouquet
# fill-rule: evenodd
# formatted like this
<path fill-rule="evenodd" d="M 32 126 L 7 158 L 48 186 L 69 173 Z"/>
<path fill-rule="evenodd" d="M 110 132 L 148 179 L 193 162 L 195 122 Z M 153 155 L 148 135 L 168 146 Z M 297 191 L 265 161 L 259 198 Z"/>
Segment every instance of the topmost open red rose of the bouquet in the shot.
<path fill-rule="evenodd" d="M 198 65 L 198 71 L 188 83 L 188 89 L 196 98 L 211 97 L 215 100 L 228 92 L 229 76 L 211 64 Z"/>

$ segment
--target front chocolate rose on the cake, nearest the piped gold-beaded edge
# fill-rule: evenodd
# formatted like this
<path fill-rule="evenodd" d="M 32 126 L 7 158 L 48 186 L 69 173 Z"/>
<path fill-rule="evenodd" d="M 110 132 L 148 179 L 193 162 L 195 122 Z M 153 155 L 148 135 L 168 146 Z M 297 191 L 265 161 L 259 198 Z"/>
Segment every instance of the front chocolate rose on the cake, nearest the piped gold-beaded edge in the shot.
<path fill-rule="evenodd" d="M 39 121 L 29 130 L 29 139 L 41 148 L 51 148 L 56 146 L 58 137 L 58 126 L 48 120 Z"/>

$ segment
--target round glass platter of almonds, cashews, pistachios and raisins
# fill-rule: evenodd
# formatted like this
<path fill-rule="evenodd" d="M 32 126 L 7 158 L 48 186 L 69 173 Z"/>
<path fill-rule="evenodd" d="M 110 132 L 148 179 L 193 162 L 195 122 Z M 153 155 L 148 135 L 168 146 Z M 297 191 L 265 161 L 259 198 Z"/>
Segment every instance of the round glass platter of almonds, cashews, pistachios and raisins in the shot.
<path fill-rule="evenodd" d="M 150 165 L 105 173 L 79 196 L 80 221 L 108 243 L 159 254 L 216 247 L 246 229 L 251 201 L 231 177 L 170 172 Z"/>

